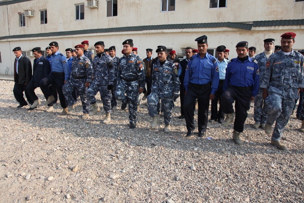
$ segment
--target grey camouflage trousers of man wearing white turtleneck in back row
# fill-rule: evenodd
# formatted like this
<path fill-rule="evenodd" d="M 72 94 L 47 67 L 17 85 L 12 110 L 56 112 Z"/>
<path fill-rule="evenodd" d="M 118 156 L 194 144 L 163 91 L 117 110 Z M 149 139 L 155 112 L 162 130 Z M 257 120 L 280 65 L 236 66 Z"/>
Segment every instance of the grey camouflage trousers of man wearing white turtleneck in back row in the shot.
<path fill-rule="evenodd" d="M 262 96 L 263 88 L 259 88 L 259 93 L 254 97 L 254 121 L 261 124 L 266 123 L 267 119 L 267 107 Z"/>

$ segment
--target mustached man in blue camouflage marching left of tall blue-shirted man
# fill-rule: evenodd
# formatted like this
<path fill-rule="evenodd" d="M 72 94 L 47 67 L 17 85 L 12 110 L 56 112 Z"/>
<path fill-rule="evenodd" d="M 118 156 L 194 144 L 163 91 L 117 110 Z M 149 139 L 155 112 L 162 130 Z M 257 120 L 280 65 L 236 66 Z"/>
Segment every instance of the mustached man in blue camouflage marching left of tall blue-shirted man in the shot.
<path fill-rule="evenodd" d="M 171 110 L 173 108 L 174 99 L 178 98 L 179 78 L 177 67 L 166 60 L 167 47 L 159 47 L 156 50 L 158 61 L 153 65 L 152 75 L 152 91 L 147 96 L 148 98 L 148 112 L 153 117 L 151 127 L 157 125 L 157 103 L 161 99 L 161 105 L 164 110 L 164 132 L 170 132 L 170 124 L 172 120 Z"/>

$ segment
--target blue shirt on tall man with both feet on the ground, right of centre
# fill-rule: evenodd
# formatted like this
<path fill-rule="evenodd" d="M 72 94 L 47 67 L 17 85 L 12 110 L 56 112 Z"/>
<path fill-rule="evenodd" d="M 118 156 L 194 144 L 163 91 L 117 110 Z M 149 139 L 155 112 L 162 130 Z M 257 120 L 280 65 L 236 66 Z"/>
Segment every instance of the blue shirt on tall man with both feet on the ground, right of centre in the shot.
<path fill-rule="evenodd" d="M 188 91 L 189 83 L 205 85 L 210 81 L 211 94 L 214 94 L 219 86 L 219 67 L 216 58 L 208 53 L 203 58 L 199 54 L 192 56 L 185 72 L 184 86 L 186 91 Z"/>

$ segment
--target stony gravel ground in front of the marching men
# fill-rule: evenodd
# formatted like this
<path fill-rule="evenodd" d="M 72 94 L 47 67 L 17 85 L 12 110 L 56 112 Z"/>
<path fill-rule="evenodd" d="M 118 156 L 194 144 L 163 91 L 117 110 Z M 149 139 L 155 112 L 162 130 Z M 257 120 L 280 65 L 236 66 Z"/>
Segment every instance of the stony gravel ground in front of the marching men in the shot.
<path fill-rule="evenodd" d="M 80 101 L 67 116 L 58 115 L 59 103 L 51 113 L 17 109 L 13 85 L 0 81 L 0 202 L 304 202 L 304 140 L 294 116 L 283 132 L 289 150 L 280 151 L 251 127 L 253 108 L 239 146 L 231 124 L 208 123 L 205 137 L 196 129 L 185 138 L 179 100 L 164 133 L 162 117 L 150 128 L 143 104 L 134 130 L 120 109 L 110 124 L 101 123 L 102 108 L 81 119 Z"/>

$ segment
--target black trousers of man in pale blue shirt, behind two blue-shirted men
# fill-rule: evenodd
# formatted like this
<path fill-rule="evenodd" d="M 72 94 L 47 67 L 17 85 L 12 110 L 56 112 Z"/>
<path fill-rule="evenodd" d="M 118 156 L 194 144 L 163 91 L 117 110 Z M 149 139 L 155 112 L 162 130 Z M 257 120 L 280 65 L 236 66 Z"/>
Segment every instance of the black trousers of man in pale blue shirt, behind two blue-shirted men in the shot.
<path fill-rule="evenodd" d="M 211 120 L 215 121 L 223 121 L 224 120 L 224 112 L 222 111 L 221 107 L 221 96 L 223 94 L 223 86 L 224 80 L 219 81 L 219 87 L 217 88 L 214 99 L 211 100 Z M 219 101 L 219 110 L 217 110 L 217 102 Z"/>

